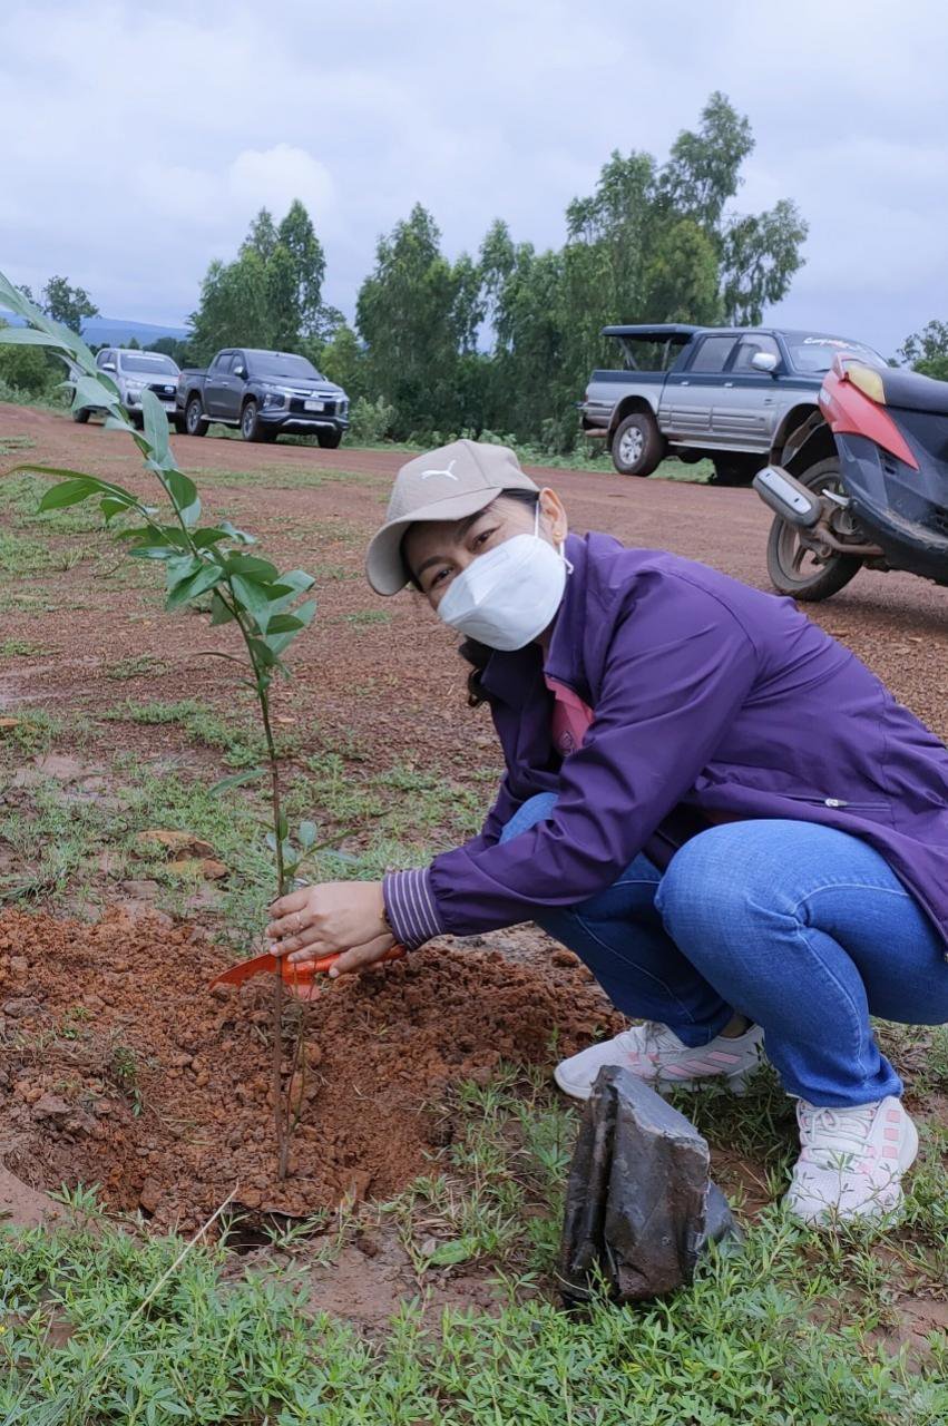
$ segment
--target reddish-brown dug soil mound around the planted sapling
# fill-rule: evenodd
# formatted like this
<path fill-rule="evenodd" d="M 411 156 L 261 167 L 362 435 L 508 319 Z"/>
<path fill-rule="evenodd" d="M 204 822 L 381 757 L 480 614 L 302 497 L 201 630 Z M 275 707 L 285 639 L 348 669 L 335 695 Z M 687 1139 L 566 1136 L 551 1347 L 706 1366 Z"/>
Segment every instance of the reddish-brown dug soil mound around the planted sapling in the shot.
<path fill-rule="evenodd" d="M 613 1027 L 569 953 L 542 971 L 496 951 L 425 947 L 326 983 L 284 1021 L 285 1072 L 308 1017 L 291 1172 L 275 1182 L 269 977 L 208 983 L 228 955 L 187 925 L 110 913 L 96 925 L 0 918 L 0 1159 L 36 1188 L 97 1184 L 104 1201 L 191 1228 L 235 1192 L 311 1214 L 431 1171 L 445 1088 L 500 1060 L 546 1064 Z"/>

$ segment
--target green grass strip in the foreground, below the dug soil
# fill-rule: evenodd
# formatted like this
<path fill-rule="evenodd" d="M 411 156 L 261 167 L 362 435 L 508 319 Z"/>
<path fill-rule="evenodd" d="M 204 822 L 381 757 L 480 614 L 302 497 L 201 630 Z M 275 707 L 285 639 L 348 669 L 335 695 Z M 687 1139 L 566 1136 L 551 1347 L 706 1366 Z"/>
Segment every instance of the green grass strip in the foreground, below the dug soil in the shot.
<path fill-rule="evenodd" d="M 912 1365 L 872 1333 L 898 1285 L 870 1235 L 827 1239 L 774 1209 L 740 1248 L 713 1249 L 694 1286 L 567 1313 L 543 1283 L 555 1263 L 575 1114 L 536 1079 L 460 1087 L 442 1172 L 379 1214 L 419 1282 L 373 1340 L 319 1313 L 308 1249 L 241 1266 L 221 1246 L 185 1253 L 105 1219 L 73 1192 L 73 1228 L 0 1249 L 0 1417 L 7 1426 L 941 1426 L 948 1350 Z M 292 1239 L 292 1241 L 291 1241 Z M 882 1238 L 878 1246 L 891 1248 Z M 495 1310 L 425 1318 L 429 1273 L 499 1269 Z M 875 1262 L 877 1269 L 872 1269 Z M 860 1292 L 854 1291 L 858 1283 Z"/>

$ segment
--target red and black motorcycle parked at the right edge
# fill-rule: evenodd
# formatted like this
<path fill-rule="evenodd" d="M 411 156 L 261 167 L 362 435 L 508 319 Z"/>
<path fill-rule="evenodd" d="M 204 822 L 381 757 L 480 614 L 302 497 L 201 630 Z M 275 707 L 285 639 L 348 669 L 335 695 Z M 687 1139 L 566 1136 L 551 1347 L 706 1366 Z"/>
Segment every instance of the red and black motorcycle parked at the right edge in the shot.
<path fill-rule="evenodd" d="M 754 489 L 781 595 L 828 599 L 862 566 L 948 585 L 948 382 L 841 352 Z"/>

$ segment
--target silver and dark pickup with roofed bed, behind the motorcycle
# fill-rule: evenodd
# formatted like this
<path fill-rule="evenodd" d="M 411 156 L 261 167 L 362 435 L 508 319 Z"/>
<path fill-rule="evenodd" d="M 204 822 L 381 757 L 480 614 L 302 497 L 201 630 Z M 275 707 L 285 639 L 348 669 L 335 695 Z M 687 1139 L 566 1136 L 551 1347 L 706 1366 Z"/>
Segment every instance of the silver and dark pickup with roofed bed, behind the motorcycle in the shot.
<path fill-rule="evenodd" d="M 620 475 L 666 459 L 714 462 L 720 485 L 750 485 L 785 434 L 817 409 L 837 352 L 872 365 L 862 342 L 773 327 L 603 327 L 623 365 L 594 371 L 580 402 L 583 435 L 609 442 Z"/>

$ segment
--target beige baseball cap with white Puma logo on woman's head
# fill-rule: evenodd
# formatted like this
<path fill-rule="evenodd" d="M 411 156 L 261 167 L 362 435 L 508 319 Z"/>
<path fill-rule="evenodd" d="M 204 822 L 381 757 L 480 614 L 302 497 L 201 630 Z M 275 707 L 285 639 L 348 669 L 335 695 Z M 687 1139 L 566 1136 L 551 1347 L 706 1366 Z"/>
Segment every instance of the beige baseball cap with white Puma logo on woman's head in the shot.
<path fill-rule="evenodd" d="M 415 520 L 462 520 L 503 491 L 539 493 L 539 489 L 509 446 L 452 441 L 416 456 L 395 476 L 385 523 L 369 543 L 365 572 L 372 589 L 378 595 L 396 595 L 409 582 L 402 539 Z"/>

